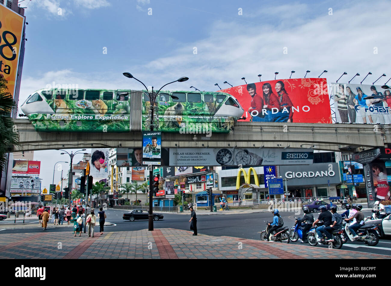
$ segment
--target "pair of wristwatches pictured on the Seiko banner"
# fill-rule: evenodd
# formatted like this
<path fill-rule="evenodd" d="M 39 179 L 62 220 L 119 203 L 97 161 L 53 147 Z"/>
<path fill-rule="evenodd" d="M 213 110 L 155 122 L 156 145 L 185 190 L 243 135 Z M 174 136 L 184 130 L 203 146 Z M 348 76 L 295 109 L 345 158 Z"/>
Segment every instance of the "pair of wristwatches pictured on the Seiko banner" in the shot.
<path fill-rule="evenodd" d="M 216 161 L 221 165 L 261 165 L 262 157 L 249 152 L 247 149 L 219 149 L 216 153 Z"/>

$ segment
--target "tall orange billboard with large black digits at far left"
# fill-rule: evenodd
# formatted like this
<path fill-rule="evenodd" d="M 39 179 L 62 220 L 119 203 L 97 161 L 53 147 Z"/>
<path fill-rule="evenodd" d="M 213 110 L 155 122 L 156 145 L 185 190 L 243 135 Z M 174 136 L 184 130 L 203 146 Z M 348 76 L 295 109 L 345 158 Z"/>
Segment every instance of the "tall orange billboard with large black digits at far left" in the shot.
<path fill-rule="evenodd" d="M 15 82 L 18 76 L 18 64 L 20 55 L 20 44 L 23 36 L 25 18 L 18 13 L 0 5 L 0 22 L 2 29 L 2 43 L 12 43 L 12 49 L 4 48 L 0 53 L 2 62 L 2 75 L 8 81 L 8 92 L 15 96 Z M 4 38 L 6 37 L 6 39 Z M 24 39 L 23 39 L 24 41 Z M 18 101 L 16 100 L 16 103 Z"/>

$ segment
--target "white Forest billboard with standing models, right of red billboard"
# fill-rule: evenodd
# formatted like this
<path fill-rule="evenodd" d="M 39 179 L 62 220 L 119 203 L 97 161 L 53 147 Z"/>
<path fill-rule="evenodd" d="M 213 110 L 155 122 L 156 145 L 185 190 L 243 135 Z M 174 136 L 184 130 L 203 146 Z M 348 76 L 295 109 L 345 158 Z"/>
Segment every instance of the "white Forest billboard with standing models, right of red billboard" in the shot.
<path fill-rule="evenodd" d="M 381 85 L 332 83 L 332 96 L 338 123 L 391 123 L 391 92 Z"/>

